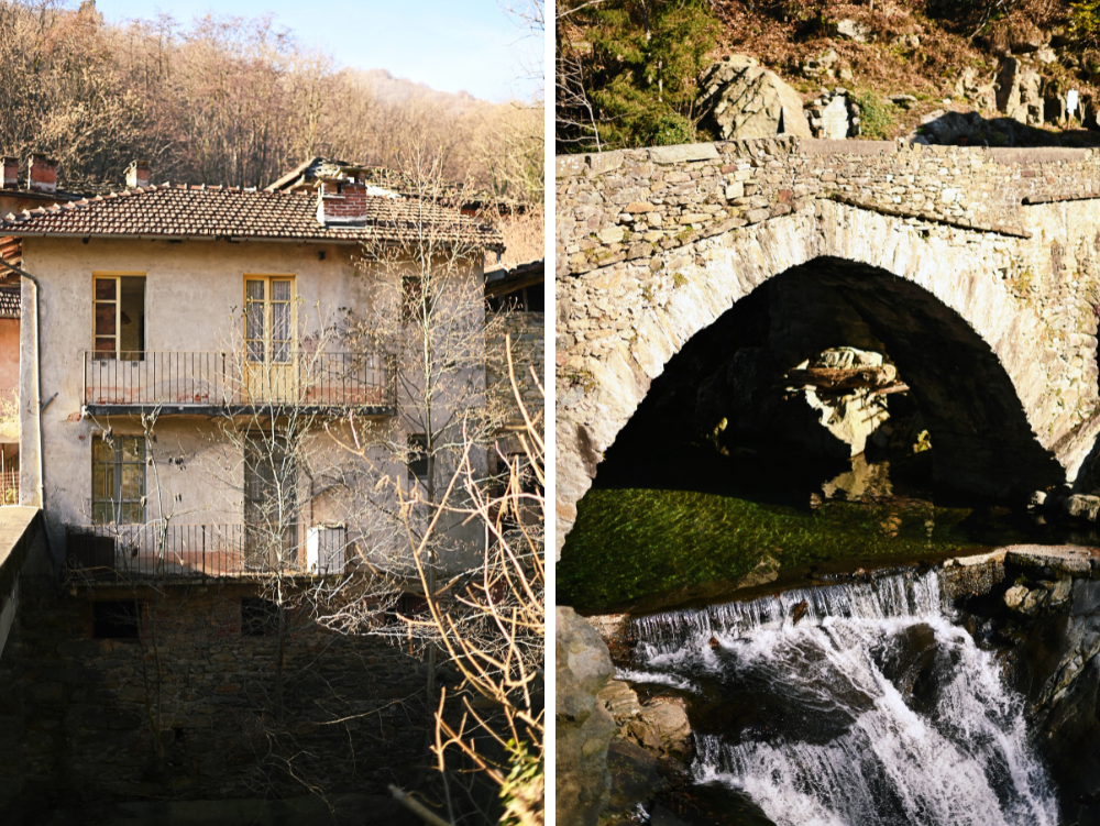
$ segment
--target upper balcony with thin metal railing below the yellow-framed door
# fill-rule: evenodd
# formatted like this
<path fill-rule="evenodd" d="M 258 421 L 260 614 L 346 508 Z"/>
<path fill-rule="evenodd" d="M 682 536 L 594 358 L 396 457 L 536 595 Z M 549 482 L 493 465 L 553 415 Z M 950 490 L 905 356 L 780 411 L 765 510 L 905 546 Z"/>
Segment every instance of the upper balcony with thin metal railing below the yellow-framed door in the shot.
<path fill-rule="evenodd" d="M 384 353 L 296 353 L 279 364 L 253 364 L 229 352 L 122 355 L 84 351 L 81 398 L 92 416 L 154 408 L 195 415 L 396 414 L 396 359 Z"/>

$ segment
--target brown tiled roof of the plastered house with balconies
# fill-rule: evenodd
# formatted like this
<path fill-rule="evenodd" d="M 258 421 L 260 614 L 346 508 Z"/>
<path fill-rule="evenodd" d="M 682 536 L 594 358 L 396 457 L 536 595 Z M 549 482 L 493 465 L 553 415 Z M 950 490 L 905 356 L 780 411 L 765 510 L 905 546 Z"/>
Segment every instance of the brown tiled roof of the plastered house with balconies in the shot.
<path fill-rule="evenodd" d="M 416 199 L 367 198 L 366 211 L 363 224 L 326 225 L 310 192 L 163 184 L 24 210 L 0 221 L 0 235 L 410 241 L 428 231 L 440 242 L 504 245 L 499 230 Z"/>

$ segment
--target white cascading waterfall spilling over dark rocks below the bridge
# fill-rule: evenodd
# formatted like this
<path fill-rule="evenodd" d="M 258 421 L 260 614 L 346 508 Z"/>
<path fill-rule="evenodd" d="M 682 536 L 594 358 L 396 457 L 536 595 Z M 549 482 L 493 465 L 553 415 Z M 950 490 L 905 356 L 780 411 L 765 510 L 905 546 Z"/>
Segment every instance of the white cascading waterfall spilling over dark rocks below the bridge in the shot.
<path fill-rule="evenodd" d="M 626 679 L 674 681 L 708 693 L 711 708 L 765 709 L 749 725 L 735 712 L 728 729 L 696 726 L 692 769 L 697 783 L 747 793 L 777 826 L 1058 823 L 1023 703 L 953 625 L 935 571 L 654 615 L 632 631 Z M 913 639 L 935 658 L 919 700 L 888 664 Z"/>

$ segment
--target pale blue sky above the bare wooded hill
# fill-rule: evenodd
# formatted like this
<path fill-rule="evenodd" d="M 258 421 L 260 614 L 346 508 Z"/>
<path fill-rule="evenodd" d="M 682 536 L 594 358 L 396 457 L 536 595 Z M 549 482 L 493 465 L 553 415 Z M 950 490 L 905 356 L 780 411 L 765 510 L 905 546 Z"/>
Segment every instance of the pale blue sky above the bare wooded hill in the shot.
<path fill-rule="evenodd" d="M 75 4 L 75 3 L 74 3 Z M 114 23 L 168 12 L 189 24 L 206 14 L 275 15 L 306 46 L 321 48 L 342 66 L 388 69 L 440 91 L 469 91 L 485 100 L 529 97 L 524 56 L 541 55 L 542 44 L 525 32 L 497 0 L 97 0 Z"/>

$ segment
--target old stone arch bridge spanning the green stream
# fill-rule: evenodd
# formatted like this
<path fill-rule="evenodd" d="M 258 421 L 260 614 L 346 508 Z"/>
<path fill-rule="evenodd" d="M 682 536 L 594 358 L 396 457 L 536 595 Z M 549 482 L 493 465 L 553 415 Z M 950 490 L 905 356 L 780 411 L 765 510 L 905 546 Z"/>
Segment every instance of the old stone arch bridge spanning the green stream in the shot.
<path fill-rule="evenodd" d="M 561 156 L 557 232 L 559 552 L 651 382 L 766 283 L 809 313 L 806 351 L 855 311 L 955 487 L 1097 486 L 1096 151 L 780 137 Z"/>

